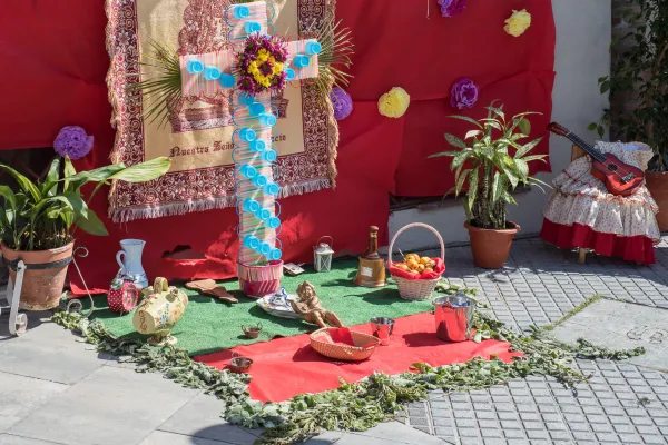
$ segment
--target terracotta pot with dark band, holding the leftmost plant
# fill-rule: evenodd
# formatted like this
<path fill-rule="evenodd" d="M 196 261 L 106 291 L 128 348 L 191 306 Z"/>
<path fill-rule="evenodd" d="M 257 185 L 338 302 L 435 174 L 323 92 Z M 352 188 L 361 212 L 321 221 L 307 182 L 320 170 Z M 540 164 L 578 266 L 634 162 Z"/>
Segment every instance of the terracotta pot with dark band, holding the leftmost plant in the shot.
<path fill-rule="evenodd" d="M 22 259 L 30 265 L 49 264 L 70 258 L 73 246 L 75 244 L 70 243 L 57 249 L 24 251 L 13 250 L 1 245 L 2 256 L 7 260 Z M 67 267 L 66 264 L 49 269 L 27 269 L 23 275 L 19 307 L 26 310 L 48 310 L 58 306 L 65 286 Z M 13 281 L 17 274 L 10 269 L 9 276 Z"/>

